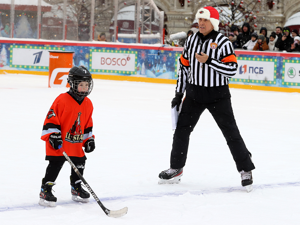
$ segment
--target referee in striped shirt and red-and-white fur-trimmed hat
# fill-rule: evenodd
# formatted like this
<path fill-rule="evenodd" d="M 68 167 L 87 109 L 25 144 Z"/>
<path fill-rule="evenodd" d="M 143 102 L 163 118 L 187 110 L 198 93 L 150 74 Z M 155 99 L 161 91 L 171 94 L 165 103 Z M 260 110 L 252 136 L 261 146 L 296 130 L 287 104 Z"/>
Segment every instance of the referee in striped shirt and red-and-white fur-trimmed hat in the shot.
<path fill-rule="evenodd" d="M 255 169 L 251 153 L 241 138 L 235 123 L 230 101 L 229 78 L 235 75 L 238 64 L 232 43 L 218 32 L 219 13 L 211 6 L 196 13 L 199 32 L 190 35 L 179 59 L 175 98 L 172 108 L 179 105 L 184 91 L 177 128 L 173 137 L 170 169 L 159 174 L 159 184 L 179 183 L 187 158 L 190 133 L 205 109 L 211 113 L 229 146 L 241 184 L 252 190 L 252 172 Z"/>

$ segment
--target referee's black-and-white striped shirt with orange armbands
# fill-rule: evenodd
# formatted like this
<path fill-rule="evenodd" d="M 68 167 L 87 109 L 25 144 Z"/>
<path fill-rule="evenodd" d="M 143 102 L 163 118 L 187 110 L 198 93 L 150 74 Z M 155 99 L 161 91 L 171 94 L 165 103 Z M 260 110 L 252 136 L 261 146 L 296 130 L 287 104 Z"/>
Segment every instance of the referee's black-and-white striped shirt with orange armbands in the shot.
<path fill-rule="evenodd" d="M 205 63 L 195 58 L 195 53 L 200 52 L 208 55 Z M 214 30 L 207 36 L 200 32 L 190 35 L 179 62 L 176 91 L 181 93 L 184 93 L 186 82 L 205 87 L 227 85 L 238 67 L 232 43 Z"/>

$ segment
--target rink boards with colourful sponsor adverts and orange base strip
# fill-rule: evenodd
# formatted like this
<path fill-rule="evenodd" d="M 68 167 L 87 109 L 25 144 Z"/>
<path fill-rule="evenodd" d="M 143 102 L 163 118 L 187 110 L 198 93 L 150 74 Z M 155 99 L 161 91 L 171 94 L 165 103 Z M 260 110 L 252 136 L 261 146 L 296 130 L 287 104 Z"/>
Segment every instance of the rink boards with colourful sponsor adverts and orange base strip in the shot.
<path fill-rule="evenodd" d="M 176 83 L 180 47 L 160 44 L 0 39 L 0 73 L 49 75 L 49 51 L 73 51 L 73 66 L 94 78 Z M 300 54 L 235 50 L 238 62 L 230 87 L 300 92 Z M 62 76 L 62 75 L 58 75 Z M 56 80 L 56 79 L 55 79 Z"/>

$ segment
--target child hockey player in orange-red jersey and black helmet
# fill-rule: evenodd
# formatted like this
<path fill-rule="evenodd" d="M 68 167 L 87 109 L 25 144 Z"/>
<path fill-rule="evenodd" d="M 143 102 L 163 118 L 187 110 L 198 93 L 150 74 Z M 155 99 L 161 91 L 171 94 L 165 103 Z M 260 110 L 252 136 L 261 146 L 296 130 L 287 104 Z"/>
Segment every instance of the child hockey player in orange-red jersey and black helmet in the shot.
<path fill-rule="evenodd" d="M 86 96 L 93 89 L 91 73 L 85 67 L 72 67 L 68 75 L 70 90 L 59 95 L 53 102 L 44 122 L 41 139 L 46 142 L 46 160 L 49 165 L 42 179 L 40 205 L 53 207 L 56 197 L 52 187 L 66 158 L 58 149 L 61 145 L 81 174 L 85 166 L 85 153 L 95 149 L 92 134 L 93 105 Z M 84 147 L 84 152 L 82 150 Z M 82 189 L 81 180 L 71 168 L 72 199 L 89 202 L 90 194 Z"/>

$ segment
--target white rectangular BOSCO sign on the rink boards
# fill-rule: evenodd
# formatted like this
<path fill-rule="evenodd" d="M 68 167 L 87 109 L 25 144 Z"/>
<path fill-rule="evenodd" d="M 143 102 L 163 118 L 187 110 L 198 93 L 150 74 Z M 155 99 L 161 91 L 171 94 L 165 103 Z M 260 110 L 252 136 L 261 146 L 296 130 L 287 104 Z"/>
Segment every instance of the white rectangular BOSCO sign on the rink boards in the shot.
<path fill-rule="evenodd" d="M 91 69 L 135 71 L 136 54 L 92 52 Z"/>

